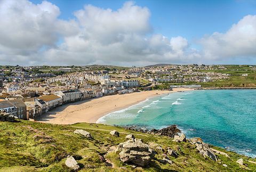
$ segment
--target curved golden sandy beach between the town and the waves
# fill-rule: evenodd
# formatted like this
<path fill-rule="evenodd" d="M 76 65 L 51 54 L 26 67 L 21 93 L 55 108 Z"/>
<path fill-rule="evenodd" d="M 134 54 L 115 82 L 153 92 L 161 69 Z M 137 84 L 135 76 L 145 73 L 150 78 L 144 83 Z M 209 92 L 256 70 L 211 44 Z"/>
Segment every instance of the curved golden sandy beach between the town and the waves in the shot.
<path fill-rule="evenodd" d="M 123 95 L 103 96 L 62 105 L 41 116 L 37 121 L 51 124 L 74 124 L 77 122 L 95 123 L 99 118 L 110 112 L 121 110 L 146 99 L 167 93 L 188 91 L 188 88 L 175 88 L 173 91 L 146 91 Z"/>

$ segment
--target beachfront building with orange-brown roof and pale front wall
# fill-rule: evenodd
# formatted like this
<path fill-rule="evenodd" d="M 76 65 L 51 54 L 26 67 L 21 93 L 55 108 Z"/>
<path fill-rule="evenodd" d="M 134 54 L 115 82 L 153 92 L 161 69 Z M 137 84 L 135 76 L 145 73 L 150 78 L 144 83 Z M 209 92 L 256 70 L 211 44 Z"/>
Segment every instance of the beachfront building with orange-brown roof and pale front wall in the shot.
<path fill-rule="evenodd" d="M 45 96 L 39 97 L 38 99 L 40 99 L 46 103 L 47 111 L 49 111 L 55 107 L 58 107 L 62 104 L 61 97 L 54 95 L 54 94 L 45 95 Z"/>

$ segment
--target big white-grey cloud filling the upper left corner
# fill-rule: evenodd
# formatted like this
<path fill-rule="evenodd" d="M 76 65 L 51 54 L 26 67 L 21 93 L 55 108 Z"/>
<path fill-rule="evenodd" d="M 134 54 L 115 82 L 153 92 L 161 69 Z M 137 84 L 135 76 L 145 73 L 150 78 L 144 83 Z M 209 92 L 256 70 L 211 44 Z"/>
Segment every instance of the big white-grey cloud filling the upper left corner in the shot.
<path fill-rule="evenodd" d="M 75 34 L 77 23 L 59 20 L 59 14 L 59 8 L 46 1 L 37 5 L 29 1 L 1 1 L 2 64 L 38 64 L 41 57 L 35 57 L 37 53 L 54 47 L 60 35 Z"/>

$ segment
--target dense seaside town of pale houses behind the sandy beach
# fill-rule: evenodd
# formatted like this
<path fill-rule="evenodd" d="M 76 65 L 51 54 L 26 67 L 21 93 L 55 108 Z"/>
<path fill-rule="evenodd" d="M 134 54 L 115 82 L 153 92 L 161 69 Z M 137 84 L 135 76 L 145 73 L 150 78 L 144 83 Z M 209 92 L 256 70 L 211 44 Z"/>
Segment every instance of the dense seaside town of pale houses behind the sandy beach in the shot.
<path fill-rule="evenodd" d="M 250 66 L 255 70 L 254 66 Z M 62 104 L 151 89 L 200 88 L 196 83 L 228 80 L 225 65 L 158 64 L 147 67 L 106 65 L 0 67 L 0 111 L 34 120 Z M 247 74 L 242 74 L 246 77 Z M 159 87 L 168 83 L 167 87 Z M 189 83 L 194 83 L 190 84 Z"/>

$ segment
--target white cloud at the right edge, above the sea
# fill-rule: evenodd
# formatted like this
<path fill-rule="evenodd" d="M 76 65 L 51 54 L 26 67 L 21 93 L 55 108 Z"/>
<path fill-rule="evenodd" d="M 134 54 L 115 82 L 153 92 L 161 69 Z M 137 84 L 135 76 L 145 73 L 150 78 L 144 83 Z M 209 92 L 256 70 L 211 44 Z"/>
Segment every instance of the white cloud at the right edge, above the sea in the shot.
<path fill-rule="evenodd" d="M 200 43 L 206 59 L 250 58 L 256 56 L 256 15 L 246 15 L 226 33 L 214 32 Z"/>

